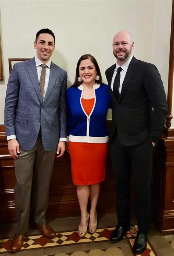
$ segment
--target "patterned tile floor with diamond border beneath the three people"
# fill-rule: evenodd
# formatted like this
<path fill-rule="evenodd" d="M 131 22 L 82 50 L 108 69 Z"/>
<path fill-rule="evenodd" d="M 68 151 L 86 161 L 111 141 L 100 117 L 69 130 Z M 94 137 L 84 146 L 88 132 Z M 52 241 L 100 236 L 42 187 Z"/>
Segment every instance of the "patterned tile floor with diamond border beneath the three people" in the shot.
<path fill-rule="evenodd" d="M 57 231 L 54 239 L 43 237 L 32 227 L 25 238 L 22 249 L 15 256 L 133 256 L 132 246 L 137 235 L 137 225 L 133 225 L 118 243 L 110 243 L 109 237 L 116 225 L 115 214 L 105 214 L 98 218 L 98 229 L 80 238 L 76 228 L 79 217 L 61 218 L 49 221 Z M 134 219 L 132 222 L 135 221 Z M 135 222 L 134 222 L 135 223 Z M 9 248 L 14 235 L 14 224 L 0 226 L 0 254 L 12 255 Z M 152 226 L 148 236 L 147 249 L 142 256 L 174 256 L 174 235 L 162 237 Z"/>

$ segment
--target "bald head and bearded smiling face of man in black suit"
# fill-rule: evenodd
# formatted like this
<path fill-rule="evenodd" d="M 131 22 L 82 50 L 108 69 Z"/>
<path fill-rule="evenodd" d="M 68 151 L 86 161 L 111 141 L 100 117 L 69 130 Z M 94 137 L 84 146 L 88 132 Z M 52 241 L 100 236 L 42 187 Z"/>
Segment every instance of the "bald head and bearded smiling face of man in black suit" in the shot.
<path fill-rule="evenodd" d="M 130 58 L 133 47 L 130 33 L 120 31 L 114 36 L 112 48 L 118 63 L 123 64 Z"/>

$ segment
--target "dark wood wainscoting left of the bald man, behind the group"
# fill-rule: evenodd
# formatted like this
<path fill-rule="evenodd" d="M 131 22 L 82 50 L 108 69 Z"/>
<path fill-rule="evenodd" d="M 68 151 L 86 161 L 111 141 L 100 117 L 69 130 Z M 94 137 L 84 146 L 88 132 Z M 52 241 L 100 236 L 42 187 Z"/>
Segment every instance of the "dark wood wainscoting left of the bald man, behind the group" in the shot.
<path fill-rule="evenodd" d="M 108 129 L 109 126 L 110 121 L 108 121 Z M 15 220 L 14 186 L 14 160 L 8 153 L 4 126 L 0 125 L 0 223 L 9 223 Z M 33 196 L 34 194 L 32 193 L 31 211 Z M 115 185 L 109 154 L 106 164 L 106 179 L 101 184 L 97 210 L 98 213 L 116 211 Z M 80 209 L 76 186 L 73 185 L 71 179 L 70 157 L 65 152 L 63 157 L 55 159 L 50 184 L 47 218 L 70 216 L 80 216 Z"/>

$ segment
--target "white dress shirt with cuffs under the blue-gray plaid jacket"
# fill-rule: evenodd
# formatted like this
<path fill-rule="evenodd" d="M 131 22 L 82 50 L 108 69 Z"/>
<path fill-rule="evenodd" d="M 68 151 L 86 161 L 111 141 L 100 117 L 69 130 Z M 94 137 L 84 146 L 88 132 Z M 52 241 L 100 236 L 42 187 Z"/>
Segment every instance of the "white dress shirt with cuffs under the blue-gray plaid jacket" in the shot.
<path fill-rule="evenodd" d="M 40 75 L 41 75 L 41 71 L 42 71 L 41 64 L 47 65 L 46 75 L 45 75 L 45 86 L 44 86 L 44 97 L 45 97 L 47 88 L 48 88 L 49 78 L 50 78 L 51 60 L 49 60 L 47 63 L 42 63 L 37 58 L 37 56 L 35 56 L 35 62 L 36 62 L 36 68 L 37 68 L 38 81 L 40 81 Z M 16 135 L 7 136 L 7 141 L 9 141 L 10 139 L 16 139 Z M 59 138 L 59 141 L 66 141 L 66 138 Z"/>

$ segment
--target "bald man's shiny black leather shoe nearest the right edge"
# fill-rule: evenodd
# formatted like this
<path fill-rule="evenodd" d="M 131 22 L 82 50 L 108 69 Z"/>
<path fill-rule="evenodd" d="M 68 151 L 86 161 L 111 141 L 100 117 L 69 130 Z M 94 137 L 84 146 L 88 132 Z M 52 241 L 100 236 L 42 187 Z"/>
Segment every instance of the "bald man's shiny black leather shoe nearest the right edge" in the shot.
<path fill-rule="evenodd" d="M 137 234 L 137 237 L 135 239 L 134 246 L 133 246 L 133 252 L 135 254 L 141 254 L 145 251 L 147 247 L 147 238 L 148 236 L 146 234 L 143 234 L 143 233 Z"/>

